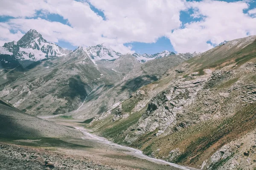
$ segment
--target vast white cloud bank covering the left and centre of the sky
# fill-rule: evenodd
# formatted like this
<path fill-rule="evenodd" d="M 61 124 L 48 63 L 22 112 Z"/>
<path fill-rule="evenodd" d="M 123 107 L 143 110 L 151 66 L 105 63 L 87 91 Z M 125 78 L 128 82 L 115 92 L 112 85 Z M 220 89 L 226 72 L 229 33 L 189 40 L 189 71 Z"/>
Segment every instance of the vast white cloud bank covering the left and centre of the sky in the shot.
<path fill-rule="evenodd" d="M 27 2 L 20 0 L 2 4 L 6 10 L 0 15 L 21 17 L 9 20 L 11 28 L 24 32 L 33 28 L 49 41 L 64 40 L 72 45 L 88 46 L 105 42 L 124 52 L 131 52 L 123 45 L 126 42 L 155 42 L 166 32 L 179 28 L 179 12 L 184 8 L 182 0 L 90 0 L 93 6 L 104 11 L 107 20 L 103 20 L 85 1 L 38 0 L 30 1 L 29 5 Z M 59 14 L 68 20 L 70 26 L 39 17 L 25 18 L 35 17 L 36 11 L 45 15 Z"/>

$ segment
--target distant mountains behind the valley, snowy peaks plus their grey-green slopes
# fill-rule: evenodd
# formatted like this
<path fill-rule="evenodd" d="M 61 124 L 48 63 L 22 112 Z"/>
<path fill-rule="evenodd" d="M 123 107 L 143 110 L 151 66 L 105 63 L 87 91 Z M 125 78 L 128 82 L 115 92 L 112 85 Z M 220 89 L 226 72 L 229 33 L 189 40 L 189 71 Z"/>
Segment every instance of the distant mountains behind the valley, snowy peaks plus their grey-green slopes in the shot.
<path fill-rule="evenodd" d="M 45 48 L 50 50 L 45 51 Z M 103 44 L 67 51 L 47 42 L 35 30 L 29 30 L 17 43 L 6 43 L 2 49 L 5 54 L 0 54 L 0 68 L 3 68 L 0 96 L 32 114 L 73 111 L 84 103 L 93 89 L 102 88 L 102 94 L 111 91 L 117 95 L 121 88 L 122 94 L 108 100 L 106 107 L 109 108 L 141 86 L 157 80 L 170 67 L 193 57 L 163 51 L 138 59 Z M 24 49 L 30 53 L 25 53 Z M 142 64 L 142 58 L 157 59 Z M 45 108 L 46 103 L 49 106 Z"/>

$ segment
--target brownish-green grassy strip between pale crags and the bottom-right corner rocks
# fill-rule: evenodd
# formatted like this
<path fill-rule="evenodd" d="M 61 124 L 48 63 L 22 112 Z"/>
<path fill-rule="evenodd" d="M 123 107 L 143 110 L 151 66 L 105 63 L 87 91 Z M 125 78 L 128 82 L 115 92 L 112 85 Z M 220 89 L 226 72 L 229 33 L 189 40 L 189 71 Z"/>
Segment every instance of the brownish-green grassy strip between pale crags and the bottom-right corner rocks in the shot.
<path fill-rule="evenodd" d="M 256 103 L 247 105 L 240 111 L 237 111 L 234 116 L 223 120 L 215 127 L 210 127 L 208 131 L 203 133 L 203 136 L 192 141 L 186 147 L 183 154 L 177 157 L 175 162 L 183 162 L 189 157 L 195 156 L 189 160 L 190 163 L 195 163 L 202 156 L 204 150 L 207 150 L 212 144 L 219 141 L 221 142 L 221 147 L 232 139 L 237 138 L 237 136 L 246 133 L 251 127 L 256 126 L 255 110 Z"/>

